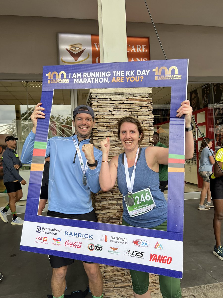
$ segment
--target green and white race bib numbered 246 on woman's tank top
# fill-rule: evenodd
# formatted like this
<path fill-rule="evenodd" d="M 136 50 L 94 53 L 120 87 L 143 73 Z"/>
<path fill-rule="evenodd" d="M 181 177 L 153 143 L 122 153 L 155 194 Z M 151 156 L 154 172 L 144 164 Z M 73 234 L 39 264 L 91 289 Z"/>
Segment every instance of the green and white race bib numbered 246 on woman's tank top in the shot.
<path fill-rule="evenodd" d="M 156 207 L 150 187 L 137 191 L 136 193 L 132 193 L 132 196 L 134 198 L 134 204 L 132 206 L 128 206 L 125 203 L 130 217 L 144 214 Z"/>

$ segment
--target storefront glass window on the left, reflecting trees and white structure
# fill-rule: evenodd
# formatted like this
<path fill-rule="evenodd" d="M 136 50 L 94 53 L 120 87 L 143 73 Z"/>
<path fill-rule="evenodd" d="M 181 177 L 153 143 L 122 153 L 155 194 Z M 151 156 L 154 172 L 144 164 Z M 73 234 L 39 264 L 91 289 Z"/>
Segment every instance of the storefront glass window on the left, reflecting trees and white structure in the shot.
<path fill-rule="evenodd" d="M 5 137 L 18 138 L 17 153 L 21 156 L 26 137 L 32 129 L 30 116 L 34 107 L 41 101 L 42 82 L 0 81 L 0 157 L 4 152 Z M 71 136 L 71 99 L 70 90 L 55 90 L 48 138 L 52 136 Z M 30 165 L 23 165 L 21 176 L 29 181 Z M 3 169 L 0 161 L 0 194 L 4 193 Z M 26 200 L 28 184 L 23 187 Z"/>

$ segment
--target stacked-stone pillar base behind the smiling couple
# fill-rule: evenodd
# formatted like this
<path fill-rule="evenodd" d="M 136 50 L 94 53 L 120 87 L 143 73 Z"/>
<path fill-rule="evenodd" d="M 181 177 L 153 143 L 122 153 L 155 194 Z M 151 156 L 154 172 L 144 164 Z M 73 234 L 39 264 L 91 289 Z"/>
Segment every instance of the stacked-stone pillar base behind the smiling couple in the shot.
<path fill-rule="evenodd" d="M 123 116 L 139 119 L 145 132 L 141 147 L 152 145 L 153 114 L 151 88 L 90 89 L 88 105 L 95 113 L 95 128 L 92 141 L 100 149 L 100 141 L 109 136 L 109 160 L 120 153 L 123 147 L 117 138 L 116 122 Z M 109 224 L 122 224 L 123 203 L 117 183 L 109 192 L 100 191 L 93 196 L 93 205 L 98 221 Z M 100 265 L 104 278 L 104 297 L 132 298 L 131 276 L 127 269 Z M 150 274 L 151 294 L 159 293 L 158 275 Z"/>

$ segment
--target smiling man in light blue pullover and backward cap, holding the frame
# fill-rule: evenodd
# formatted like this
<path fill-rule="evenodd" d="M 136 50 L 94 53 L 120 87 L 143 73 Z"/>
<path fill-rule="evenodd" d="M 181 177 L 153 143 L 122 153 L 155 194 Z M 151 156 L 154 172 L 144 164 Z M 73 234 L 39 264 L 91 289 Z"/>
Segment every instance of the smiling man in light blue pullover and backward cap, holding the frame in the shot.
<path fill-rule="evenodd" d="M 22 161 L 31 163 L 37 119 L 45 118 L 42 103 L 32 113 L 33 128 L 23 145 Z M 102 152 L 89 143 L 89 136 L 95 126 L 94 112 L 87 105 L 79 105 L 73 111 L 75 135 L 53 137 L 48 140 L 46 157 L 50 156 L 48 216 L 97 221 L 92 207 L 91 192 L 100 190 L 99 171 Z M 82 153 L 82 154 L 81 154 Z M 88 161 L 88 163 L 87 163 Z M 88 166 L 87 166 L 88 164 Z M 69 213 L 69 214 L 68 214 Z M 54 298 L 63 298 L 65 276 L 73 259 L 49 256 L 53 275 L 51 279 Z M 99 265 L 83 262 L 88 275 L 92 296 L 103 297 L 103 279 Z"/>

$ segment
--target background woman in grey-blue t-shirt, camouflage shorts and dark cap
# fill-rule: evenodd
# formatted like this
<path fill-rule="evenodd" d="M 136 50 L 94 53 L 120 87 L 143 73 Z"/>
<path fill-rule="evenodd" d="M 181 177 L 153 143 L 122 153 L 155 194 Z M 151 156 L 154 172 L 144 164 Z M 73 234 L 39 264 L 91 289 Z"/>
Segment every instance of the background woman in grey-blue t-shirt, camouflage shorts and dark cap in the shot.
<path fill-rule="evenodd" d="M 211 203 L 211 191 L 210 191 L 210 179 L 209 176 L 212 173 L 212 167 L 214 164 L 214 158 L 208 148 L 211 148 L 213 139 L 205 138 L 208 145 L 205 141 L 202 140 L 200 150 L 199 150 L 199 159 L 200 166 L 198 168 L 199 175 L 203 179 L 202 191 L 200 193 L 200 204 L 198 210 L 209 210 L 210 207 L 214 207 Z M 207 195 L 207 203 L 204 205 L 204 201 Z"/>

